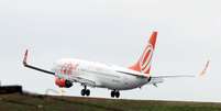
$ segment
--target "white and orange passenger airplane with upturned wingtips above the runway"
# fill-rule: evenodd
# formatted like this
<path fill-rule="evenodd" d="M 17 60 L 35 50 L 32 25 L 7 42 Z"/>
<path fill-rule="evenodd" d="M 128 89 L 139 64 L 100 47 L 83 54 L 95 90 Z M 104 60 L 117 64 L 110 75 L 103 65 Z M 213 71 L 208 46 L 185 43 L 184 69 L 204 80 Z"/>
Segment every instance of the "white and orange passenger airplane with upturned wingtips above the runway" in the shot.
<path fill-rule="evenodd" d="M 121 90 L 141 88 L 144 85 L 157 87 L 165 78 L 196 77 L 196 75 L 153 76 L 151 63 L 155 49 L 157 32 L 154 31 L 137 62 L 129 67 L 107 65 L 77 58 L 62 58 L 51 70 L 27 64 L 27 49 L 23 58 L 23 66 L 55 76 L 55 85 L 59 88 L 70 88 L 75 82 L 84 86 L 81 96 L 90 96 L 91 88 L 106 88 L 111 90 L 112 98 L 119 98 Z M 200 75 L 206 74 L 209 60 Z"/>

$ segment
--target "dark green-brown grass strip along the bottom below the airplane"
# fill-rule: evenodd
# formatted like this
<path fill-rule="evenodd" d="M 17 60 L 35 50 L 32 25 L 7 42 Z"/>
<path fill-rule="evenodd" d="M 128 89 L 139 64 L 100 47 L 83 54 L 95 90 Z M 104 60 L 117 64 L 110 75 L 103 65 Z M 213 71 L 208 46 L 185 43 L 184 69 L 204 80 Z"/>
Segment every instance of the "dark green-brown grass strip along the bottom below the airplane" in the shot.
<path fill-rule="evenodd" d="M 0 111 L 221 111 L 221 103 L 0 95 Z"/>

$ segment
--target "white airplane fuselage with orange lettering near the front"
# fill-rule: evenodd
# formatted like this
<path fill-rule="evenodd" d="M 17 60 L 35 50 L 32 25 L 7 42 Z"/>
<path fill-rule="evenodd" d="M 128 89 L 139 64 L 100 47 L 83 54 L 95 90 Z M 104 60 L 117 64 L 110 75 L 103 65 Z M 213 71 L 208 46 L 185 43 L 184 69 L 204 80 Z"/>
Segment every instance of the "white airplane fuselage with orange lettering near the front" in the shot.
<path fill-rule="evenodd" d="M 53 71 L 58 78 L 112 90 L 133 89 L 148 82 L 147 78 L 130 75 L 130 73 L 142 75 L 139 71 L 80 59 L 60 59 L 54 65 Z"/>

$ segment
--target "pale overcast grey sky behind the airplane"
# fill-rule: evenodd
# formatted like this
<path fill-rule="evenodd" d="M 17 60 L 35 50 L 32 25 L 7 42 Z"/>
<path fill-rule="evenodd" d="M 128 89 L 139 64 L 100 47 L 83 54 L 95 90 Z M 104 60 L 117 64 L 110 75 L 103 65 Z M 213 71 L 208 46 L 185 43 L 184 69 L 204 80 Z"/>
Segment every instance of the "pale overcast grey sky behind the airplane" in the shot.
<path fill-rule="evenodd" d="M 196 74 L 211 59 L 203 78 L 166 79 L 158 88 L 122 91 L 125 99 L 221 101 L 221 2 L 219 0 L 1 0 L 0 79 L 44 93 L 58 90 L 54 77 L 22 67 L 51 68 L 63 57 L 130 66 L 153 30 L 158 31 L 154 75 Z M 80 96 L 74 85 L 66 95 Z M 92 97 L 110 97 L 91 89 Z"/>

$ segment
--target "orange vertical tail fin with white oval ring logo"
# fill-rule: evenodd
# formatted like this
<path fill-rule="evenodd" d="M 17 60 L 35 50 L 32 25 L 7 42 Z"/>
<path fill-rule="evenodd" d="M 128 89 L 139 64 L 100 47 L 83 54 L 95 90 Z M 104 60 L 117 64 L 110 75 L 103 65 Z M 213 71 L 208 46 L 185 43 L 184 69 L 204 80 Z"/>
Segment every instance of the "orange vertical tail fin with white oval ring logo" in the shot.
<path fill-rule="evenodd" d="M 130 69 L 141 71 L 143 74 L 150 74 L 151 71 L 151 63 L 155 48 L 157 32 L 153 32 L 151 38 L 148 41 L 147 46 L 145 47 L 142 56 L 133 66 L 129 67 Z"/>

